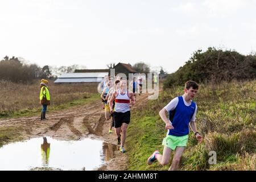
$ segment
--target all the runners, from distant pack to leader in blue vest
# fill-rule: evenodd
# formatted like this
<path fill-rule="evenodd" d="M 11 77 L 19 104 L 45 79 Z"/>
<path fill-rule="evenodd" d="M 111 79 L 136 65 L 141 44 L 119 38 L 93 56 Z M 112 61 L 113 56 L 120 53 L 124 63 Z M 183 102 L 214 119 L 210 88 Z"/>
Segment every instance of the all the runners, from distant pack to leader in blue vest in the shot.
<path fill-rule="evenodd" d="M 139 84 L 139 86 L 138 86 Z M 157 85 L 156 79 L 154 84 Z M 105 88 L 102 91 L 101 98 L 104 102 L 105 118 L 111 118 L 109 133 L 113 133 L 115 129 L 117 135 L 117 144 L 120 144 L 119 150 L 126 152 L 124 148 L 126 140 L 126 131 L 130 122 L 130 107 L 135 104 L 136 93 L 141 94 L 141 80 L 130 82 L 132 92 L 127 89 L 127 80 L 120 77 L 106 78 Z M 139 91 L 138 89 L 139 88 Z M 169 170 L 179 168 L 181 156 L 187 146 L 189 126 L 191 127 L 195 137 L 199 142 L 203 141 L 202 135 L 197 131 L 196 113 L 197 105 L 193 102 L 193 98 L 199 89 L 199 85 L 195 81 L 185 82 L 183 96 L 172 99 L 162 110 L 159 111 L 160 118 L 166 124 L 167 135 L 163 139 L 163 154 L 155 150 L 147 159 L 147 164 L 151 165 L 158 161 L 161 165 L 170 163 L 171 153 L 175 151 L 171 167 Z"/>

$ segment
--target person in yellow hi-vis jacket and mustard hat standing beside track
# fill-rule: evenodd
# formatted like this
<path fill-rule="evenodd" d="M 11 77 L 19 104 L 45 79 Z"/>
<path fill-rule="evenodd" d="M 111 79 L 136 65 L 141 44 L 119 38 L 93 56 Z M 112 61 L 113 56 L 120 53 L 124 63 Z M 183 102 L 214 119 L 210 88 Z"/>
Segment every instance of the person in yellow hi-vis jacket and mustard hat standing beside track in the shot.
<path fill-rule="evenodd" d="M 43 105 L 43 109 L 41 112 L 41 120 L 46 119 L 46 110 L 47 110 L 47 106 L 50 105 L 50 95 L 49 95 L 49 88 L 47 86 L 48 81 L 45 79 L 41 80 L 40 83 L 40 88 L 41 88 L 41 92 L 40 92 L 40 104 Z"/>

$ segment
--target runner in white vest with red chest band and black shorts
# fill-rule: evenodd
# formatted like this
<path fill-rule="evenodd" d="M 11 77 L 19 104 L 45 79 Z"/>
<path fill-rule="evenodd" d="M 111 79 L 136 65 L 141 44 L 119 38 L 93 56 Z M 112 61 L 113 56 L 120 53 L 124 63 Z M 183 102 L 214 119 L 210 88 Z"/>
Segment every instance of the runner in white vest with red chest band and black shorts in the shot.
<path fill-rule="evenodd" d="M 115 107 L 113 110 L 113 101 L 115 100 Z M 126 131 L 130 122 L 130 105 L 135 104 L 135 98 L 133 92 L 127 90 L 127 81 L 121 80 L 121 88 L 115 90 L 114 94 L 110 98 L 109 106 L 110 113 L 114 113 L 115 121 L 115 134 L 117 134 L 117 143 L 121 144 L 120 151 L 125 152 L 124 144 L 126 139 Z M 122 139 L 120 143 L 120 133 L 122 130 Z"/>

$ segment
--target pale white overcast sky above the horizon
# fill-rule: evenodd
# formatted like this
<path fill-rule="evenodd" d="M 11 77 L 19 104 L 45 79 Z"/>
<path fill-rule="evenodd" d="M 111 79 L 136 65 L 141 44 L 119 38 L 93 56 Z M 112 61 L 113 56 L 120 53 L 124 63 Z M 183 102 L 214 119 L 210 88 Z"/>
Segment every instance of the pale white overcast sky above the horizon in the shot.
<path fill-rule="evenodd" d="M 144 62 L 168 73 L 197 49 L 256 51 L 253 0 L 1 0 L 0 60 L 105 69 Z"/>

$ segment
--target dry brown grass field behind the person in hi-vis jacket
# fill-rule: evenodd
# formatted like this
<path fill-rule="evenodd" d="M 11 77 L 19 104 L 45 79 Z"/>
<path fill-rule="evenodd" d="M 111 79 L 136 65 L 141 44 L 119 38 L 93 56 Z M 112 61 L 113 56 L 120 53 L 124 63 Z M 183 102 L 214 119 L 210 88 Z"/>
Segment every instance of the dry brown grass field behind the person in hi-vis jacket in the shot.
<path fill-rule="evenodd" d="M 39 111 L 42 107 L 39 104 L 39 84 L 40 80 L 29 85 L 0 81 L 0 118 Z M 98 83 L 56 85 L 50 81 L 51 107 L 49 110 L 68 102 L 96 97 L 97 85 Z M 98 98 L 100 99 L 100 96 Z"/>

